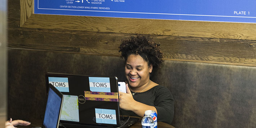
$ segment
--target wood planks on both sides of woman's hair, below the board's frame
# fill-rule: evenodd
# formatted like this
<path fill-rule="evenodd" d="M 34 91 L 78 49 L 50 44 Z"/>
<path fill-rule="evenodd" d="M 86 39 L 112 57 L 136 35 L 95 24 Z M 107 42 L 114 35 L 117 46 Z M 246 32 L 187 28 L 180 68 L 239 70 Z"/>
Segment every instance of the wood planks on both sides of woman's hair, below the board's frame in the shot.
<path fill-rule="evenodd" d="M 25 29 L 25 28 L 19 28 Z M 9 30 L 9 47 L 120 56 L 118 47 L 130 34 L 48 29 Z M 165 59 L 256 64 L 255 40 L 154 36 Z"/>

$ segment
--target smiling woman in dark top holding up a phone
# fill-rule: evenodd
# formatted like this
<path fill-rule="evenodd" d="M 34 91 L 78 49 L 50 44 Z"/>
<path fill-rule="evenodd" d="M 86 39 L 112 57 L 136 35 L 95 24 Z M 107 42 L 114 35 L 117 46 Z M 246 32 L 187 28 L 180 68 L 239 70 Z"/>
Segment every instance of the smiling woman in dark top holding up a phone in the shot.
<path fill-rule="evenodd" d="M 144 116 L 146 110 L 154 110 L 158 121 L 171 124 L 174 102 L 168 88 L 150 80 L 153 68 L 163 62 L 160 44 L 149 36 L 137 35 L 122 41 L 119 52 L 125 58 L 127 93 L 119 92 L 119 106 L 124 115 Z"/>

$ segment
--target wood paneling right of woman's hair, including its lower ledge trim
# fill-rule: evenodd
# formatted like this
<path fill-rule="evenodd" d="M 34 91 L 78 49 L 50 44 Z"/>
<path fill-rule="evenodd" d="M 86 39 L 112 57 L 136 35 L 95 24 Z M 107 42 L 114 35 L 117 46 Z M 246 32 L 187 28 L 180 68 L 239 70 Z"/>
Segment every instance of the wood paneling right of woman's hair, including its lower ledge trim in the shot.
<path fill-rule="evenodd" d="M 255 66 L 255 40 L 155 36 L 165 59 Z"/>

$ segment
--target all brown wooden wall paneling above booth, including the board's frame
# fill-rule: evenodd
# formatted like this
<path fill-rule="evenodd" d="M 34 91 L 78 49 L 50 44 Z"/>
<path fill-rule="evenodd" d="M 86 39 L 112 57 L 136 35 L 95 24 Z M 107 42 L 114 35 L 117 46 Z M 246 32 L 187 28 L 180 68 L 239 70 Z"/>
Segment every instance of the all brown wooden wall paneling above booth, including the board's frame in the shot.
<path fill-rule="evenodd" d="M 138 33 L 161 42 L 165 59 L 256 64 L 252 23 L 40 15 L 33 0 L 17 1 L 8 1 L 9 48 L 120 56 L 120 41 Z"/>

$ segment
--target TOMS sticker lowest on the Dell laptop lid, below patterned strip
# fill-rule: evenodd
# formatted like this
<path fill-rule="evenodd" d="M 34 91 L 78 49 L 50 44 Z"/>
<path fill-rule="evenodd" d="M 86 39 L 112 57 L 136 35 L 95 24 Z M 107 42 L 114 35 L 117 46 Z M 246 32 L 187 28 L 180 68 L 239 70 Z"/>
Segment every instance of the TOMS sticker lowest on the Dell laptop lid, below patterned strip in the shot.
<path fill-rule="evenodd" d="M 96 123 L 116 124 L 115 110 L 95 109 Z"/>

